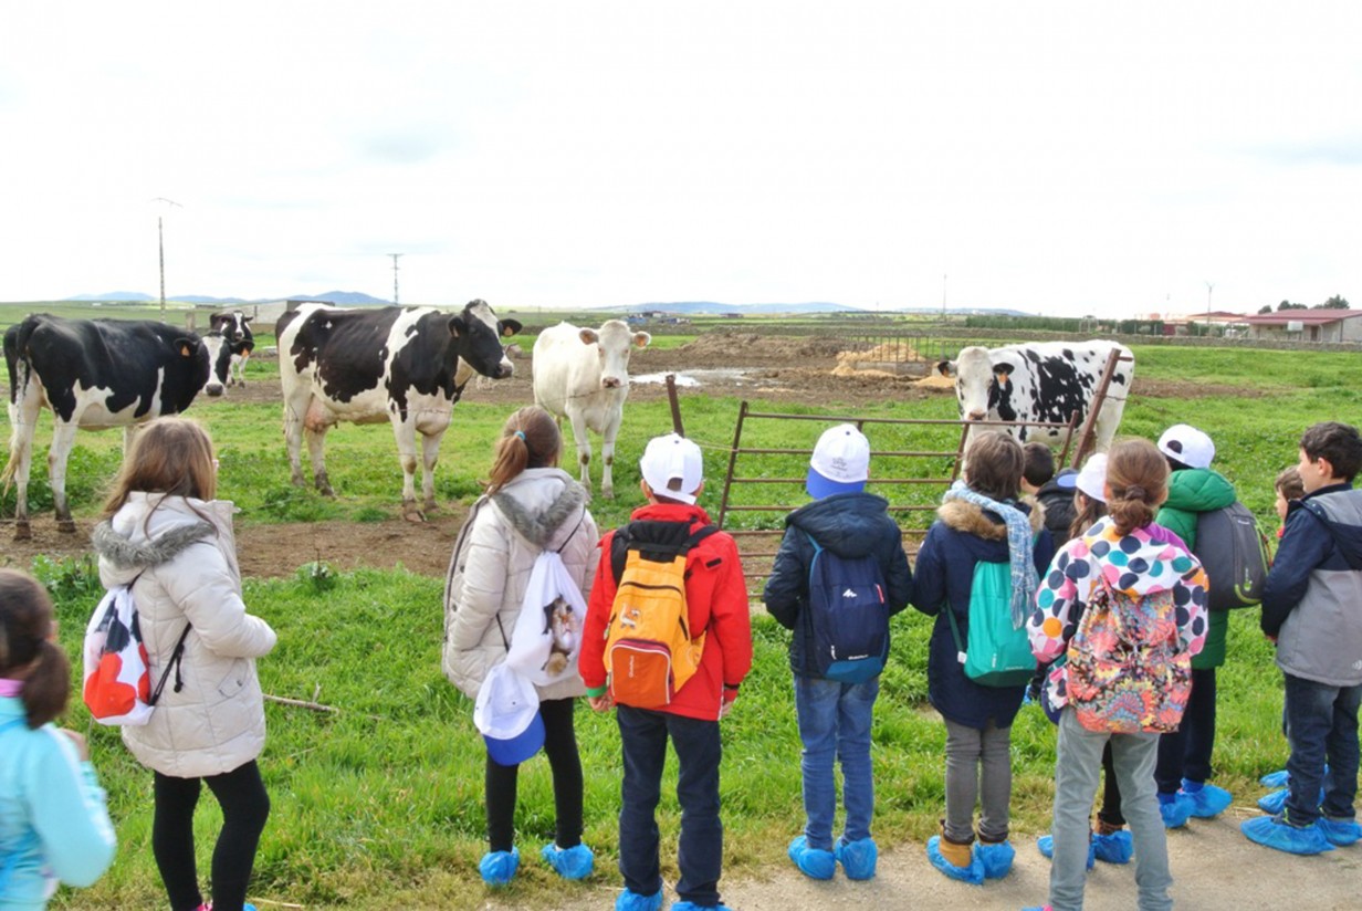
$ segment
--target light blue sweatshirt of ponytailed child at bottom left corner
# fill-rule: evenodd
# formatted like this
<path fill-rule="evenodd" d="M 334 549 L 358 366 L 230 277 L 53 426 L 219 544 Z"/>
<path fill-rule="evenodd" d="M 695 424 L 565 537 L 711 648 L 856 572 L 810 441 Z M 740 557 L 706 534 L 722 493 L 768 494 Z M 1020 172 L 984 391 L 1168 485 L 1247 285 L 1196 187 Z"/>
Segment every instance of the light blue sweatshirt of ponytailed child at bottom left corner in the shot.
<path fill-rule="evenodd" d="M 54 724 L 29 730 L 18 697 L 0 697 L 0 911 L 45 908 L 59 881 L 90 885 L 114 844 L 90 763 Z"/>

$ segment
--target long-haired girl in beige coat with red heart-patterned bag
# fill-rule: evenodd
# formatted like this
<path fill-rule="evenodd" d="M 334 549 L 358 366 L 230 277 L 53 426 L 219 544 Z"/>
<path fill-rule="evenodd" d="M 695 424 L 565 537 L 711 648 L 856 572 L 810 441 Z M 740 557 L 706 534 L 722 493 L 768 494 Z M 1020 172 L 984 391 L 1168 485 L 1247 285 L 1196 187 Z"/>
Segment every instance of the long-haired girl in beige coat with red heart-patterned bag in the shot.
<path fill-rule="evenodd" d="M 197 423 L 158 418 L 133 437 L 91 545 L 106 588 L 132 587 L 147 669 L 159 680 L 184 651 L 144 727 L 123 742 L 154 772 L 151 851 L 172 908 L 240 911 L 270 816 L 256 757 L 264 697 L 255 659 L 275 644 L 247 613 L 232 502 L 215 500 L 218 463 Z M 202 784 L 222 806 L 212 852 L 212 900 L 203 901 L 193 850 Z"/>

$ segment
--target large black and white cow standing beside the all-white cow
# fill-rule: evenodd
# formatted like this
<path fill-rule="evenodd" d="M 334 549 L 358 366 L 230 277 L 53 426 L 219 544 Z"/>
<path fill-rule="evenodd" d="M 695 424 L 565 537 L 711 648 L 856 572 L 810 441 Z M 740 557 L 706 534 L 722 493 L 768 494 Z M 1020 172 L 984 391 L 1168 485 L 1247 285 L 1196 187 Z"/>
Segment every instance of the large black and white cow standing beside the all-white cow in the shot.
<path fill-rule="evenodd" d="M 327 430 L 342 421 L 387 419 L 402 462 L 403 513 L 419 517 L 418 464 L 424 468 L 424 507 L 433 509 L 434 464 L 454 406 L 474 376 L 511 376 L 515 368 L 501 350 L 501 338 L 519 331 L 518 321 L 498 320 L 486 301 L 470 301 L 456 315 L 429 306 L 361 310 L 305 304 L 281 316 L 275 335 L 293 483 L 304 483 L 304 434 L 312 478 L 331 496 L 323 458 Z"/>

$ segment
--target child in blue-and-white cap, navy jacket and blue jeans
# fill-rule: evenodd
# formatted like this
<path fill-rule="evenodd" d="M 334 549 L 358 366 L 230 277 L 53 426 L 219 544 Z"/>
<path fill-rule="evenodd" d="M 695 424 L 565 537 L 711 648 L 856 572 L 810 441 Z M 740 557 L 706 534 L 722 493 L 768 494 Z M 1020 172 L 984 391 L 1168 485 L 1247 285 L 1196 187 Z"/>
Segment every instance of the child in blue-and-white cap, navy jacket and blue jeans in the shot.
<path fill-rule="evenodd" d="M 763 601 L 786 629 L 794 707 L 804 744 L 804 835 L 790 843 L 790 859 L 808 877 L 829 880 L 838 862 L 847 878 L 869 880 L 878 855 L 870 837 L 874 782 L 870 776 L 870 722 L 880 675 L 844 682 L 819 671 L 816 633 L 809 607 L 809 571 L 814 554 L 828 550 L 843 560 L 873 557 L 884 579 L 884 618 L 907 607 L 913 573 L 903 553 L 903 535 L 889 517 L 888 501 L 865 492 L 870 443 L 850 423 L 819 437 L 809 459 L 805 488 L 813 502 L 785 519 L 785 538 L 776 552 Z M 887 629 L 887 626 L 885 626 Z M 884 640 L 885 650 L 888 639 Z M 834 843 L 836 784 L 834 758 L 842 761 L 843 835 Z"/>

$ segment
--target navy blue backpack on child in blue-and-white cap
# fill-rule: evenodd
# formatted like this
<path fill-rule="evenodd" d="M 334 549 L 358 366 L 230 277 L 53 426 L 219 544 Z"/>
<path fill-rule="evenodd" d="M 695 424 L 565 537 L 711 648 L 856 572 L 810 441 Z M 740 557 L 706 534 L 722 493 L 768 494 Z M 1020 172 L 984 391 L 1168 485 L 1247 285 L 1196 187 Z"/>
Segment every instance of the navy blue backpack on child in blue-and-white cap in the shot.
<path fill-rule="evenodd" d="M 813 673 L 843 684 L 864 684 L 881 670 L 889 652 L 889 605 L 874 557 L 846 558 L 813 545 L 809 564 L 809 654 Z"/>

